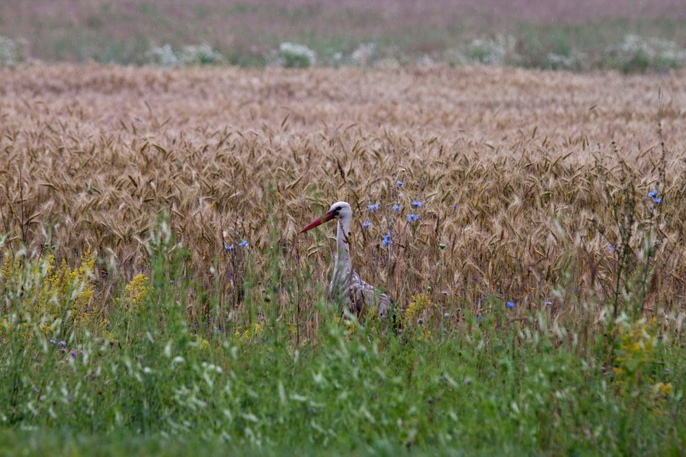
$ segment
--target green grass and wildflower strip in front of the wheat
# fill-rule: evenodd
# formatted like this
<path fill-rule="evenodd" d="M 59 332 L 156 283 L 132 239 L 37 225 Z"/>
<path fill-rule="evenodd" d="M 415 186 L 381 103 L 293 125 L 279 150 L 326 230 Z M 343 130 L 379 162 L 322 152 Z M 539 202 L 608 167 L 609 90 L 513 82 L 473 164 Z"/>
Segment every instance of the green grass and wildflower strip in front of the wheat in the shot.
<path fill-rule="evenodd" d="M 296 309 L 250 299 L 249 269 L 245 311 L 219 323 L 220 294 L 174 281 L 185 253 L 161 224 L 147 241 L 147 292 L 115 291 L 105 323 L 78 309 L 87 262 L 53 276 L 35 257 L 12 272 L 5 263 L 0 454 L 677 455 L 686 445 L 674 329 L 593 325 L 581 305 L 566 326 L 547 309 L 514 320 L 487 299 L 480 318 L 455 309 L 399 332 L 390 320 L 340 322 L 319 290 L 320 325 L 305 342 L 290 324 Z M 39 312 L 49 287 L 71 303 L 55 318 Z M 189 305 L 206 315 L 191 320 Z"/>

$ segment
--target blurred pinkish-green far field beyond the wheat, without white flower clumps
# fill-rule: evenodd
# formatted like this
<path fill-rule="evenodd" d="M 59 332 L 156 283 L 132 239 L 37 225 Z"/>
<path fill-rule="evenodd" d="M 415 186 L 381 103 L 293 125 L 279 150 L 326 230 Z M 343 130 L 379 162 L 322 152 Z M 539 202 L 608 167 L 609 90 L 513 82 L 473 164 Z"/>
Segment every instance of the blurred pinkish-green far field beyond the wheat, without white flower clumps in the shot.
<path fill-rule="evenodd" d="M 375 43 L 378 59 L 454 61 L 474 39 L 511 36 L 506 58 L 546 67 L 548 56 L 596 67 L 628 34 L 686 47 L 686 5 L 678 0 L 546 1 L 295 1 L 164 0 L 21 1 L 0 5 L 0 34 L 27 40 L 32 58 L 47 62 L 145 62 L 145 51 L 168 43 L 209 43 L 229 62 L 265 65 L 280 43 L 314 49 L 321 65 Z M 469 51 L 466 51 L 469 54 Z M 579 65 L 571 65 L 578 67 Z"/>

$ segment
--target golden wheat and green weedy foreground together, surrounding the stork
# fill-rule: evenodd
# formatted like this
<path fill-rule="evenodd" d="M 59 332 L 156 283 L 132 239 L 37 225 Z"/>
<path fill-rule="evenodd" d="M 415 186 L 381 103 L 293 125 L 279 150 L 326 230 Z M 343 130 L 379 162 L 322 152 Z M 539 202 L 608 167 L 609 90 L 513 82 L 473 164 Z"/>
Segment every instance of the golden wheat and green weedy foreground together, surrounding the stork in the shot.
<path fill-rule="evenodd" d="M 0 71 L 0 453 L 681 454 L 684 76 Z"/>

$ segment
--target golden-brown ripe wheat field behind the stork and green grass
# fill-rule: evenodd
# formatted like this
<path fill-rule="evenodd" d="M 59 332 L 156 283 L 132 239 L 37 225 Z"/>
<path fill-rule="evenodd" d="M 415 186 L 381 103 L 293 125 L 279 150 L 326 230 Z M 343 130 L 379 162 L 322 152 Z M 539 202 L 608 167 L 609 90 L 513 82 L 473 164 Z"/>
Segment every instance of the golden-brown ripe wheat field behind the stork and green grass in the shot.
<path fill-rule="evenodd" d="M 333 226 L 320 232 L 328 240 L 297 233 L 346 200 L 353 263 L 397 303 L 429 288 L 444 307 L 477 313 L 487 296 L 556 308 L 571 257 L 570 290 L 611 295 L 619 234 L 606 191 L 619 202 L 626 178 L 637 213 L 657 206 L 653 188 L 664 198 L 648 308 L 681 309 L 681 73 L 94 65 L 0 79 L 2 222 L 14 249 L 48 243 L 73 263 L 90 247 L 130 279 L 164 209 L 189 250 L 185 274 L 206 282 L 216 263 L 239 305 L 235 257 L 247 253 L 263 272 L 278 246 L 283 281 L 307 270 L 301 287 L 327 283 Z"/>

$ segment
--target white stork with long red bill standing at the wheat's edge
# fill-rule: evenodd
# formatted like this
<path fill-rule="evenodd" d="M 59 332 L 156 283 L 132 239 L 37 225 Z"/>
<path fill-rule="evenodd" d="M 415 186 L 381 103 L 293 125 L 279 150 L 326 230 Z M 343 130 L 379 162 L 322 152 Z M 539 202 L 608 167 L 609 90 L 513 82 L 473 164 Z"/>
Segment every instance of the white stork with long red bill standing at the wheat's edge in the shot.
<path fill-rule="evenodd" d="M 367 310 L 375 309 L 379 316 L 385 317 L 390 307 L 390 297 L 377 292 L 372 285 L 359 279 L 357 272 L 353 271 L 349 241 L 352 216 L 353 211 L 348 203 L 337 202 L 332 204 L 331 209 L 324 215 L 307 224 L 300 233 L 305 233 L 324 224 L 324 222 L 335 219 L 338 225 L 336 229 L 336 256 L 329 298 L 335 303 L 339 303 L 343 308 L 347 305 L 351 314 L 362 316 Z"/>

